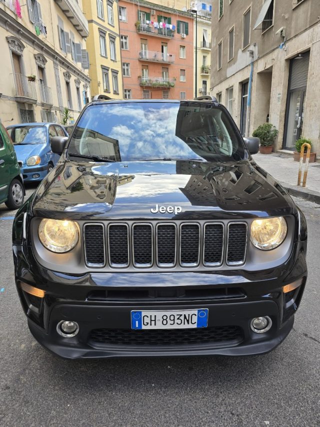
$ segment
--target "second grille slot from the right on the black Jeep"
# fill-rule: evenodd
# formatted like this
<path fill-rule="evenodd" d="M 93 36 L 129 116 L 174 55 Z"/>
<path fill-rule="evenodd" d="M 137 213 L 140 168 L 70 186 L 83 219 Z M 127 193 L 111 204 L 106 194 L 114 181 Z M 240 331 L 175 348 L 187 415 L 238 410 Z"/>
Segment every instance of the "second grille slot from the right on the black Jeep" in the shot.
<path fill-rule="evenodd" d="M 204 225 L 204 265 L 221 265 L 223 259 L 224 226 L 223 224 Z"/>

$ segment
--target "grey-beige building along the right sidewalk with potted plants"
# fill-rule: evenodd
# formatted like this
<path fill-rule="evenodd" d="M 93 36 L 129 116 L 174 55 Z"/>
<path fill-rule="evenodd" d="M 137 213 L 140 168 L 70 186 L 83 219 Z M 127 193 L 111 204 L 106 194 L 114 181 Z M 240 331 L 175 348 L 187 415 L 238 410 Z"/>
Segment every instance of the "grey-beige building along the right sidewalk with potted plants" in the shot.
<path fill-rule="evenodd" d="M 213 0 L 211 88 L 242 135 L 269 122 L 275 149 L 320 153 L 319 0 Z"/>

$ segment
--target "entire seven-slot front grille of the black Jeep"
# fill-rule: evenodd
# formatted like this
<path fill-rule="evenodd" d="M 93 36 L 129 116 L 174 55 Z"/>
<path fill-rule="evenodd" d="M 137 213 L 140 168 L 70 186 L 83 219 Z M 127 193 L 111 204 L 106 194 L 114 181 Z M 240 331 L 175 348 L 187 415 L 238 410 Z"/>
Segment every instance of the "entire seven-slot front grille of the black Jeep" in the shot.
<path fill-rule="evenodd" d="M 236 266 L 245 262 L 247 224 L 90 223 L 84 225 L 83 238 L 88 267 L 104 267 L 105 259 L 112 268 Z"/>

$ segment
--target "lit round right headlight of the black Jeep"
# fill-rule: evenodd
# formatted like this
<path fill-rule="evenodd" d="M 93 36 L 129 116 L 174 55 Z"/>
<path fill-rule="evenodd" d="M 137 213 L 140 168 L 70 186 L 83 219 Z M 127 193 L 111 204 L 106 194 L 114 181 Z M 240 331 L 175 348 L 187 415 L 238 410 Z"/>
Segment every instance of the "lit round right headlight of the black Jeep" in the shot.
<path fill-rule="evenodd" d="M 264 251 L 274 249 L 285 239 L 287 228 L 286 221 L 282 216 L 255 219 L 251 224 L 251 243 Z"/>

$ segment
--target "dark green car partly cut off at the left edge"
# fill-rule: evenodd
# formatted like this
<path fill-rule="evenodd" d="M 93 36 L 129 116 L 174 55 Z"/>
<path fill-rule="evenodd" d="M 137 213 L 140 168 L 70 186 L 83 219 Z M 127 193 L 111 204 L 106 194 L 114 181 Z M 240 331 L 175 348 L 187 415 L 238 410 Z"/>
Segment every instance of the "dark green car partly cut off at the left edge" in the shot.
<path fill-rule="evenodd" d="M 18 209 L 24 199 L 25 191 L 20 168 L 12 141 L 0 123 L 0 203 L 9 209 Z"/>

